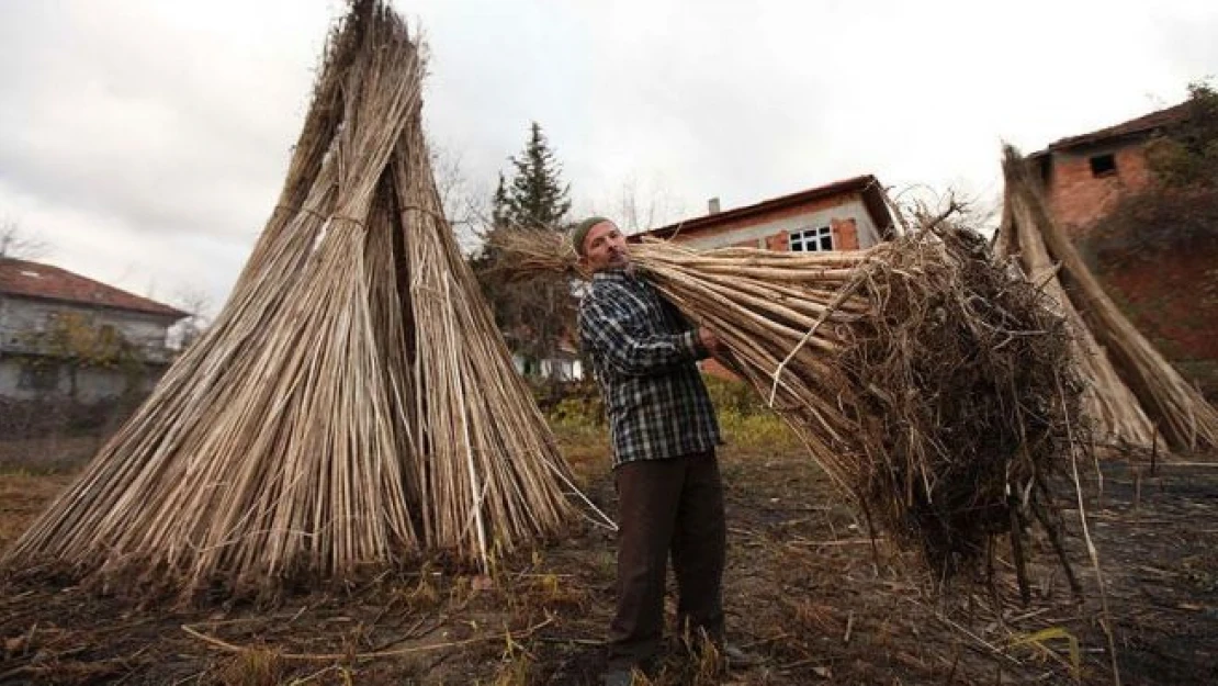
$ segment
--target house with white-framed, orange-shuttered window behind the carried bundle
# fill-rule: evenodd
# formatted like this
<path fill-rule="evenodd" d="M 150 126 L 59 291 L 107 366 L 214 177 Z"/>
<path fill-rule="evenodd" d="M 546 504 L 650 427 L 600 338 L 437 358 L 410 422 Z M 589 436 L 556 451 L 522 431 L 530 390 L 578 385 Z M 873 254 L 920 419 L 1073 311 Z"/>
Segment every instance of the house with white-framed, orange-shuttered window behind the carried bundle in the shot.
<path fill-rule="evenodd" d="M 720 211 L 648 232 L 693 247 L 750 246 L 822 251 L 870 247 L 893 235 L 883 186 L 867 174 Z"/>

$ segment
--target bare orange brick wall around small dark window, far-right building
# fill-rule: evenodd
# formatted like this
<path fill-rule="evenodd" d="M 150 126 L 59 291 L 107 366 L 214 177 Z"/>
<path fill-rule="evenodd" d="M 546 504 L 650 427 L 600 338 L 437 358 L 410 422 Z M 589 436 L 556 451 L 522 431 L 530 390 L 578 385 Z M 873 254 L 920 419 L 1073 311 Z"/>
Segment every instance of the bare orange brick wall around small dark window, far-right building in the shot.
<path fill-rule="evenodd" d="M 1093 157 L 1112 155 L 1116 172 L 1096 177 Z M 1102 217 L 1127 193 L 1150 184 L 1150 171 L 1141 141 L 1125 145 L 1067 150 L 1052 154 L 1049 179 L 1049 205 L 1054 216 L 1071 235 L 1079 236 Z"/>

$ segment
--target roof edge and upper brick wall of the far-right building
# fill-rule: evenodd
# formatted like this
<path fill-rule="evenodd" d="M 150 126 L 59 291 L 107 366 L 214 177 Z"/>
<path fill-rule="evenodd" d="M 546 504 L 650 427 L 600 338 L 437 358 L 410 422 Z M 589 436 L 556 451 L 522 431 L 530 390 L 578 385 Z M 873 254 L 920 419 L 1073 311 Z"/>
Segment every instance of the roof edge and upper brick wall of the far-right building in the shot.
<path fill-rule="evenodd" d="M 1150 185 L 1146 141 L 1188 116 L 1188 102 L 1091 133 L 1063 138 L 1029 160 L 1037 164 L 1050 210 L 1074 236 L 1129 193 Z"/>

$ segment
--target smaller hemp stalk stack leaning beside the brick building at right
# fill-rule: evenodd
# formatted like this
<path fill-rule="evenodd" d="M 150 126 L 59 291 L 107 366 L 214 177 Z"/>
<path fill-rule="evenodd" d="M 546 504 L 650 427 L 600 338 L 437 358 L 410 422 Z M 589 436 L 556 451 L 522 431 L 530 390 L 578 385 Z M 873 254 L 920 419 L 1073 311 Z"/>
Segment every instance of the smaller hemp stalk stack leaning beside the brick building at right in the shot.
<path fill-rule="evenodd" d="M 1121 313 L 1051 218 L 1027 162 L 1007 146 L 1006 200 L 996 249 L 1017 258 L 1058 302 L 1075 331 L 1084 403 L 1101 440 L 1177 451 L 1218 447 L 1218 412 Z"/>

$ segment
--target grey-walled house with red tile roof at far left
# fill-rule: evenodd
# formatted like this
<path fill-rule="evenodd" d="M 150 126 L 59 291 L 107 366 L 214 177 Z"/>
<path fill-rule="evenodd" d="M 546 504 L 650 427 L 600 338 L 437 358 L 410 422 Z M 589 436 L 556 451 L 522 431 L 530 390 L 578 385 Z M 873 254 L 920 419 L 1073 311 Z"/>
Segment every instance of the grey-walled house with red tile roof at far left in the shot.
<path fill-rule="evenodd" d="M 171 359 L 169 327 L 186 316 L 52 264 L 0 257 L 0 398 L 97 402 L 130 391 L 134 377 L 150 387 Z M 65 347 L 68 333 L 89 350 Z M 119 346 L 144 373 L 91 363 Z"/>

